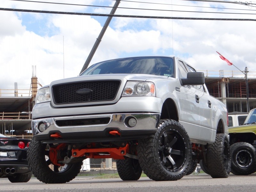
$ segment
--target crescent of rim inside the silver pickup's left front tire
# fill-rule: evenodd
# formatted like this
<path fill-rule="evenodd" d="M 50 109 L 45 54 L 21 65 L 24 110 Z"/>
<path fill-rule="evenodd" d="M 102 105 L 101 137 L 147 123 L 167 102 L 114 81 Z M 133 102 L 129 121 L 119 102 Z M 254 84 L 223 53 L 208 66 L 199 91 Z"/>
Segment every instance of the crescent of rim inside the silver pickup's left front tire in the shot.
<path fill-rule="evenodd" d="M 67 172 L 71 167 L 72 167 L 72 164 L 64 164 L 63 166 L 58 166 L 58 165 L 55 165 L 52 163 L 50 157 L 49 157 L 49 150 L 50 148 L 53 146 L 53 144 L 47 144 L 45 145 L 45 162 L 46 164 L 48 165 L 48 167 L 53 171 L 53 172 L 56 172 L 56 173 L 63 173 L 63 172 Z"/>

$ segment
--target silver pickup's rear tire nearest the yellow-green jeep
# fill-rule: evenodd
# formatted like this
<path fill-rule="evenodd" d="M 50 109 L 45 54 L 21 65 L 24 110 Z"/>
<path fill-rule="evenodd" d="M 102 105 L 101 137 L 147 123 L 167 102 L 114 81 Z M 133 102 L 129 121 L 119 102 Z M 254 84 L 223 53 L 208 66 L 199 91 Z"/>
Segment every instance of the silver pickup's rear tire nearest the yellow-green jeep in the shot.
<path fill-rule="evenodd" d="M 212 178 L 227 178 L 229 176 L 231 162 L 227 135 L 216 134 L 215 142 L 208 144 L 206 156 Z"/>

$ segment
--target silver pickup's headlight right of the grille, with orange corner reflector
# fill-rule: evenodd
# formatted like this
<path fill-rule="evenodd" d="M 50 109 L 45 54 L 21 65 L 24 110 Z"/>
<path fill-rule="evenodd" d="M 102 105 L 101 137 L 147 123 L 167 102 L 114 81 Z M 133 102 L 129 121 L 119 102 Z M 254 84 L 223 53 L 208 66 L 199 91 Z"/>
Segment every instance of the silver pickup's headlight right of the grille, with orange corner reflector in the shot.
<path fill-rule="evenodd" d="M 122 96 L 153 96 L 156 97 L 156 86 L 152 82 L 128 81 Z"/>

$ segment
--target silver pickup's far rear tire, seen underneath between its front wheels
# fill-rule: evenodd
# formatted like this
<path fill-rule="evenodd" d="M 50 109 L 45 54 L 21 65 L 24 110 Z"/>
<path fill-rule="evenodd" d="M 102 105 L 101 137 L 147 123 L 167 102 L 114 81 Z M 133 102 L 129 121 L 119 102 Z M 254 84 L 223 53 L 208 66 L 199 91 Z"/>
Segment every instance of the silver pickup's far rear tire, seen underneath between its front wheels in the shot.
<path fill-rule="evenodd" d="M 139 161 L 132 158 L 116 160 L 116 168 L 118 175 L 124 181 L 138 180 L 142 173 Z"/>

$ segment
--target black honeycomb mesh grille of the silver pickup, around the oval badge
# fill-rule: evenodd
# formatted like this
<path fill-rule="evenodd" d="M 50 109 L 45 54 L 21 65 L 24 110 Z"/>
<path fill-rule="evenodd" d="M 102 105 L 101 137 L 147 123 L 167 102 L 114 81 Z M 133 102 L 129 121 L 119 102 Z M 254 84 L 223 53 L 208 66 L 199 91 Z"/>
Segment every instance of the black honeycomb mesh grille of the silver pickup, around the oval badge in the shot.
<path fill-rule="evenodd" d="M 57 105 L 71 103 L 86 103 L 111 101 L 116 98 L 121 81 L 84 81 L 69 84 L 57 84 L 52 86 L 53 102 Z M 80 95 L 76 91 L 87 88 L 92 90 L 91 94 Z"/>

